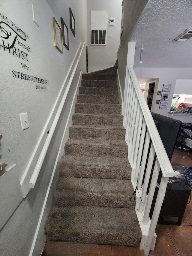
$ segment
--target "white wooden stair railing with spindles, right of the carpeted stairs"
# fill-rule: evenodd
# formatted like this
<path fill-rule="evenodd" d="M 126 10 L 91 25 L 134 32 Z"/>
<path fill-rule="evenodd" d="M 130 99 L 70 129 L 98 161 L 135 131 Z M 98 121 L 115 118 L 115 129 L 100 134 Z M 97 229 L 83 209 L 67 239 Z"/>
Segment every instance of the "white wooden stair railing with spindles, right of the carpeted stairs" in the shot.
<path fill-rule="evenodd" d="M 128 65 L 125 92 L 125 140 L 128 144 L 128 159 L 132 167 L 132 184 L 134 188 L 137 186 L 139 193 L 136 201 L 136 213 L 137 216 L 141 216 L 140 225 L 150 224 L 142 245 L 145 255 L 149 255 L 167 183 L 169 177 L 174 176 L 174 171 L 132 65 Z M 150 221 L 149 213 L 160 169 L 162 178 Z"/>

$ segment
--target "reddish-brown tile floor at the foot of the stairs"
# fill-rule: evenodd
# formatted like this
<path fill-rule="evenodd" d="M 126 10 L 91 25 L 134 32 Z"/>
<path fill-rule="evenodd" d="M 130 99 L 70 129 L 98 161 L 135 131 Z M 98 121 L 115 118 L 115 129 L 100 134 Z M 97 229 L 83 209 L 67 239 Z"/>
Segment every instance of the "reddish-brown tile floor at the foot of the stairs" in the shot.
<path fill-rule="evenodd" d="M 192 166 L 192 153 L 174 150 L 171 162 Z M 155 251 L 149 256 L 192 256 L 192 200 L 187 204 L 181 226 L 157 225 Z M 143 256 L 139 248 L 111 245 L 83 245 L 66 242 L 47 242 L 42 256 Z"/>

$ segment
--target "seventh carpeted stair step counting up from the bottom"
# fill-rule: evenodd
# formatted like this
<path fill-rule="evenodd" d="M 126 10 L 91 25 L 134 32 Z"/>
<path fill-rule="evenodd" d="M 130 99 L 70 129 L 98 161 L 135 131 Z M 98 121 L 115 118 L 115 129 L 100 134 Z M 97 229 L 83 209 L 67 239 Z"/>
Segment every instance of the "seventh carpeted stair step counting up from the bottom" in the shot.
<path fill-rule="evenodd" d="M 119 104 L 88 104 L 76 103 L 76 113 L 90 113 L 90 114 L 120 114 L 121 105 Z"/>

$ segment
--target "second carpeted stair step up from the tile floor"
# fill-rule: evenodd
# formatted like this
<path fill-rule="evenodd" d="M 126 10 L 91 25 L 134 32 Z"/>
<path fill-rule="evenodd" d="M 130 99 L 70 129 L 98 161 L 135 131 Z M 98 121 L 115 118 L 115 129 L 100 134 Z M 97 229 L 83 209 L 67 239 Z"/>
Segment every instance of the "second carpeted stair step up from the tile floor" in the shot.
<path fill-rule="evenodd" d="M 62 177 L 55 193 L 55 206 L 108 206 L 132 208 L 131 180 Z"/>

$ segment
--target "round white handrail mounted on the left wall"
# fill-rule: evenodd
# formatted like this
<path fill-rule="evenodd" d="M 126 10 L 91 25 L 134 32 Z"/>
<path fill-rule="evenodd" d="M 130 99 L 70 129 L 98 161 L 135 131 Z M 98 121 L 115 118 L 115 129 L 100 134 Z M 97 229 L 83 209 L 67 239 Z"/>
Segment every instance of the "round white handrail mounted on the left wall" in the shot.
<path fill-rule="evenodd" d="M 41 167 L 42 167 L 42 164 L 43 164 L 43 162 L 44 162 L 44 159 L 45 159 L 45 156 L 46 156 L 46 153 L 47 153 L 49 144 L 50 144 L 51 139 L 52 139 L 52 136 L 53 136 L 53 134 L 54 134 L 54 131 L 55 131 L 57 122 L 58 122 L 58 120 L 59 120 L 61 111 L 62 111 L 62 109 L 63 109 L 65 100 L 66 100 L 66 98 L 67 98 L 67 94 L 68 94 L 68 92 L 69 92 L 70 85 L 71 85 L 71 83 L 72 83 L 72 80 L 73 80 L 73 77 L 74 77 L 74 74 L 75 74 L 77 65 L 78 65 L 78 63 L 79 63 L 79 59 L 80 59 L 80 57 L 81 57 L 81 54 L 82 54 L 82 50 L 83 50 L 84 45 L 85 45 L 85 42 L 83 43 L 82 47 L 81 47 L 81 44 L 79 45 L 79 48 L 81 48 L 81 51 L 80 51 L 80 53 L 79 53 L 79 56 L 78 56 L 78 58 L 77 58 L 77 61 L 76 61 L 75 65 L 74 65 L 73 71 L 72 71 L 72 73 L 71 73 L 71 75 L 70 75 L 69 82 L 68 82 L 67 87 L 66 87 L 66 89 L 65 89 L 65 92 L 64 92 L 64 95 L 63 95 L 63 97 L 62 97 L 61 103 L 60 103 L 60 105 L 59 105 L 59 107 L 58 107 L 58 111 L 57 111 L 57 113 L 56 113 L 56 115 L 55 115 L 55 118 L 54 118 L 54 120 L 53 120 L 53 122 L 52 122 L 50 131 L 49 131 L 49 134 L 48 134 L 48 136 L 47 136 L 47 138 L 46 138 L 46 141 L 45 141 L 45 143 L 44 143 L 44 146 L 43 146 L 43 148 L 42 148 L 42 150 L 41 150 L 41 154 L 40 154 L 40 156 L 39 156 L 39 158 L 38 158 L 38 161 L 37 161 L 37 164 L 36 164 L 36 166 L 35 166 L 35 169 L 34 169 L 34 171 L 33 171 L 33 173 L 32 173 L 31 179 L 30 179 L 30 181 L 29 181 L 29 188 L 34 188 L 34 187 L 35 187 L 35 183 L 36 183 L 36 181 L 37 181 L 39 172 L 40 172 Z"/>

